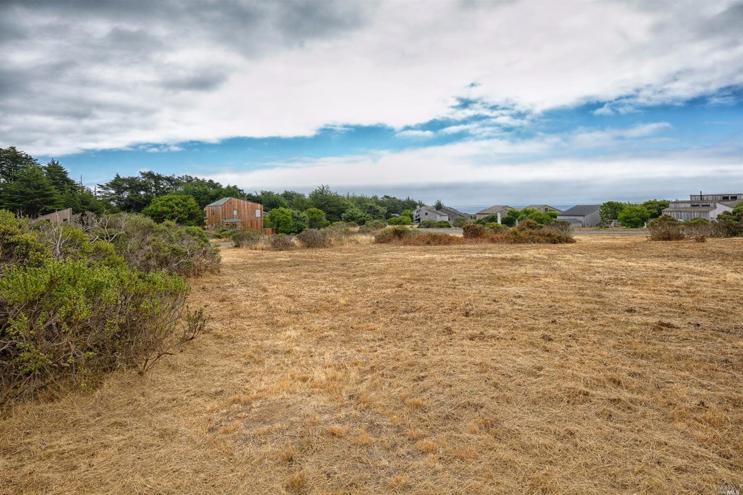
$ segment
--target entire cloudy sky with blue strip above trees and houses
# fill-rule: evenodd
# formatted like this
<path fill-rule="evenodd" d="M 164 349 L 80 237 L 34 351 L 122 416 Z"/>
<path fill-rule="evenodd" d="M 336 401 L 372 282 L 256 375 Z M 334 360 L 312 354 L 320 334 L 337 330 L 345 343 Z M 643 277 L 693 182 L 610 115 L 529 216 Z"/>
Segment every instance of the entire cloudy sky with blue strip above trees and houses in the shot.
<path fill-rule="evenodd" d="M 743 191 L 743 1 L 1 1 L 0 146 L 89 185 Z"/>

